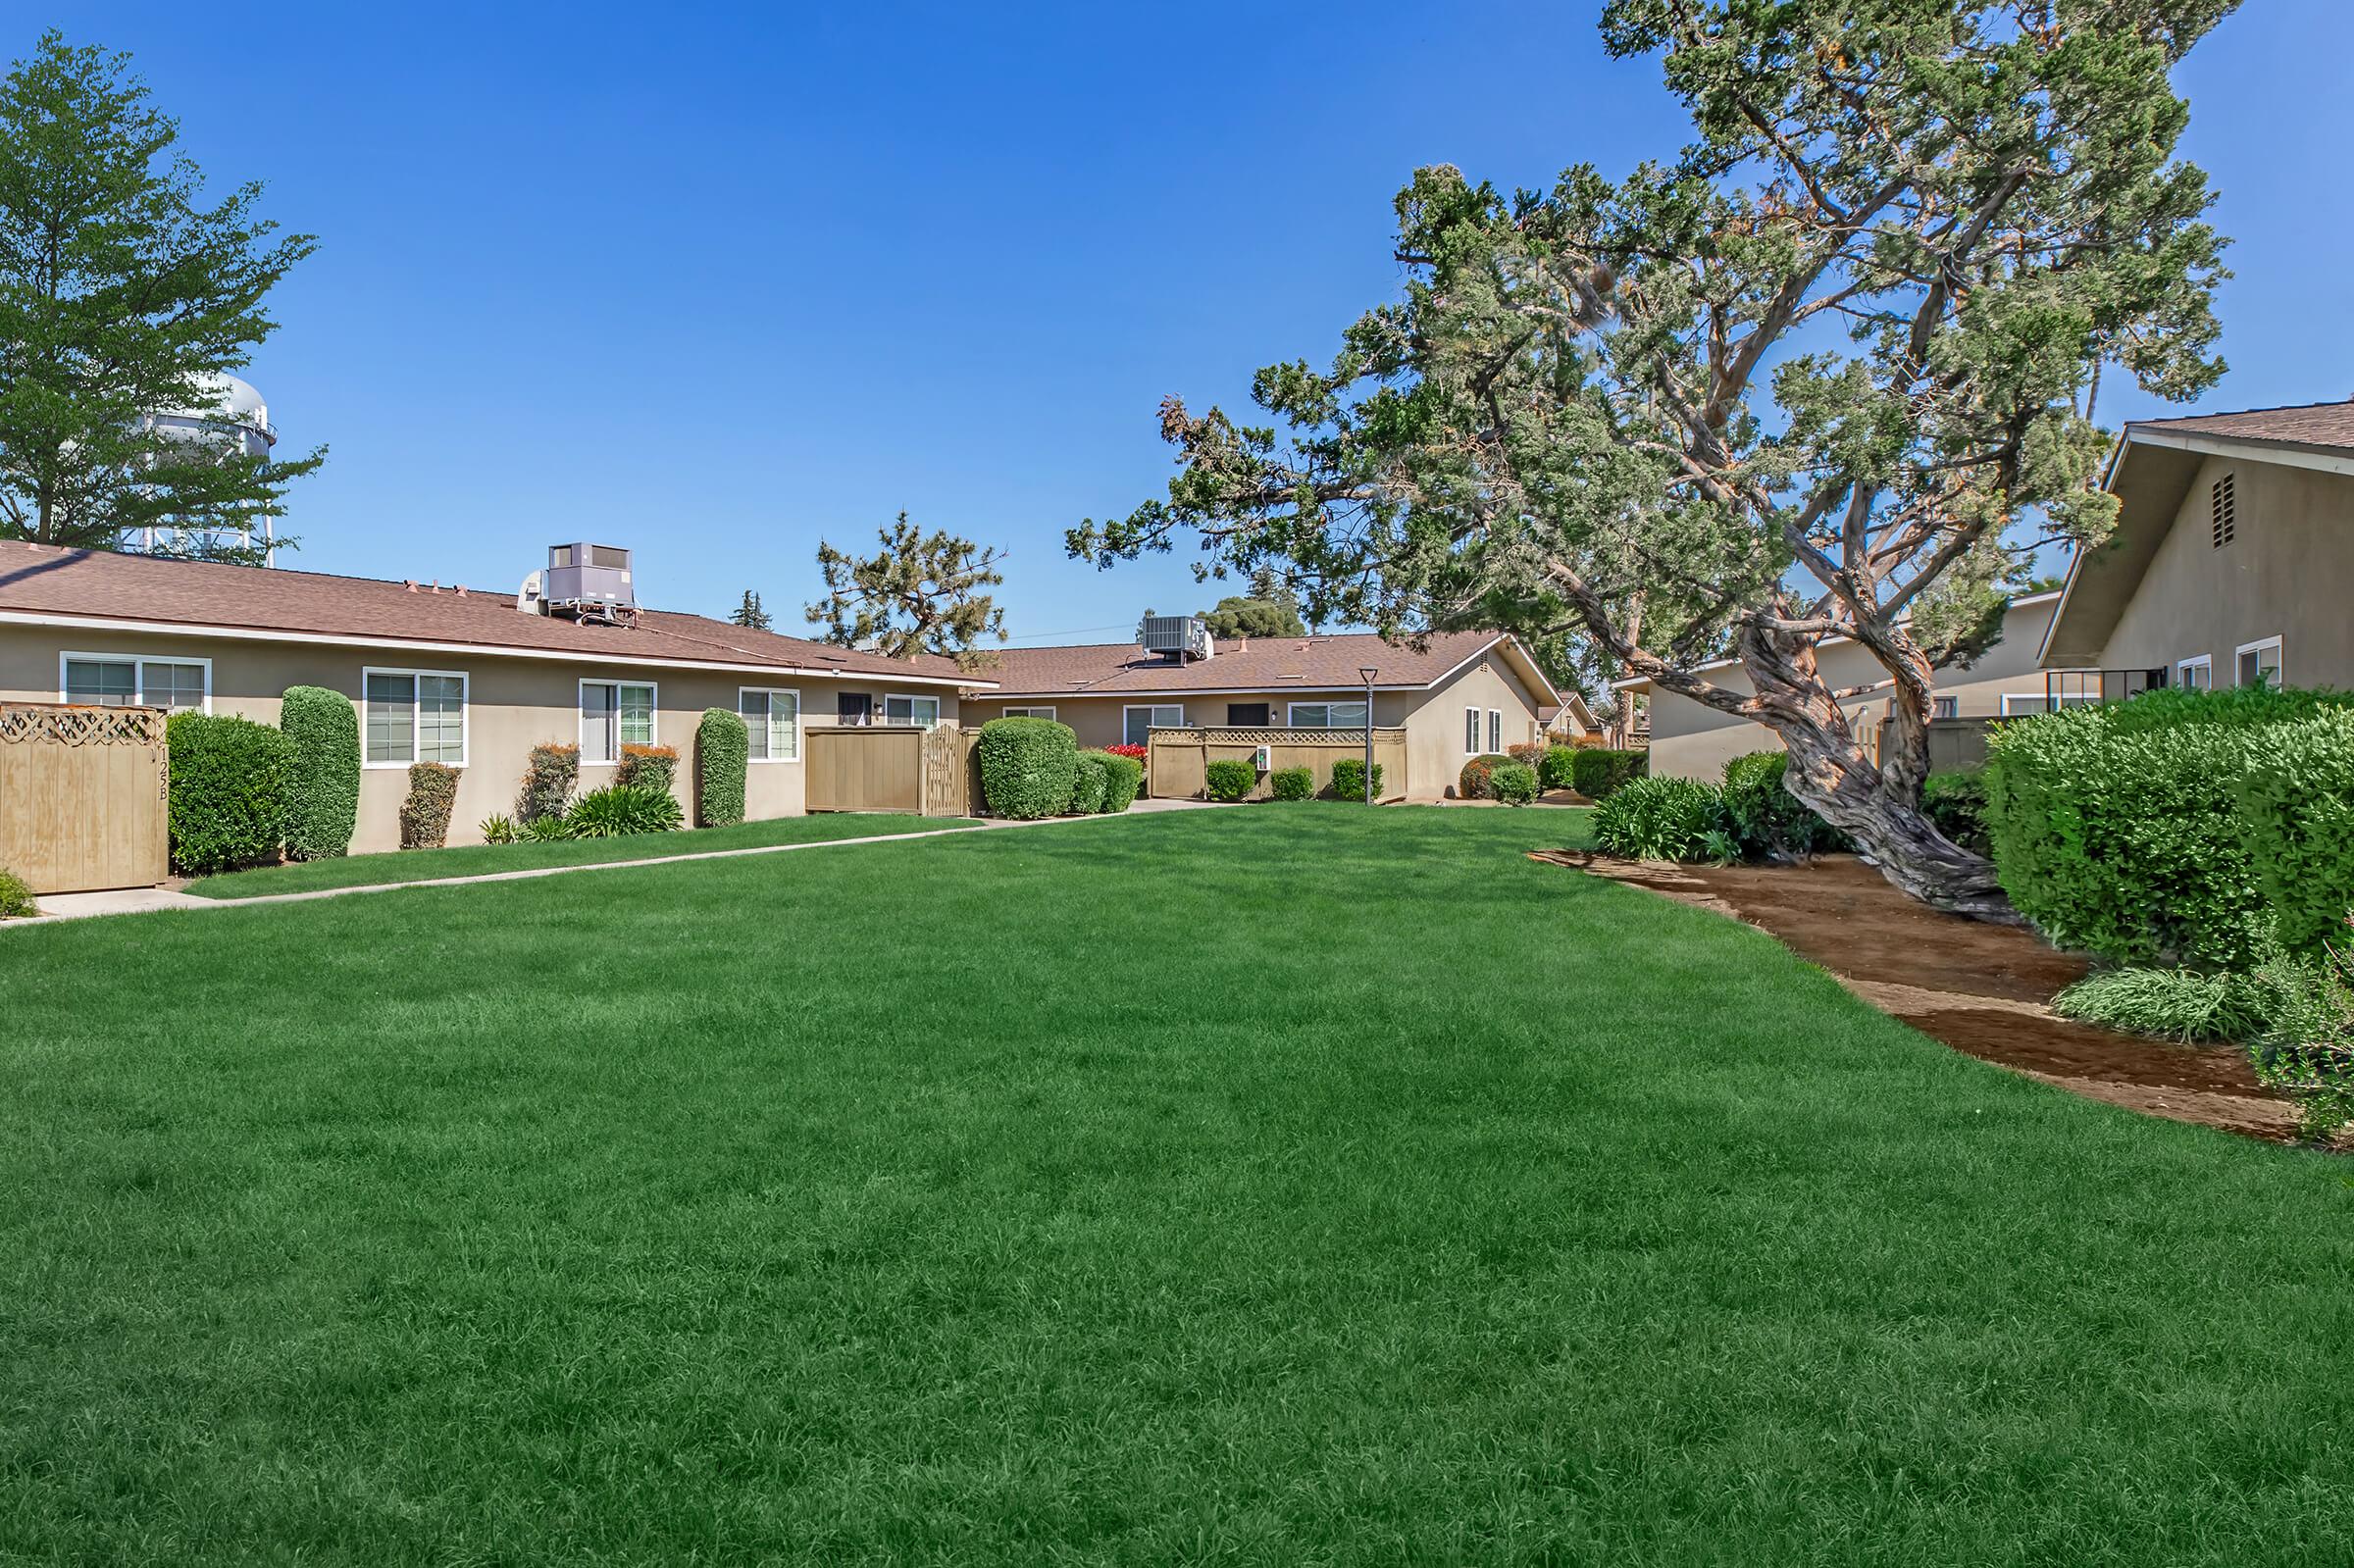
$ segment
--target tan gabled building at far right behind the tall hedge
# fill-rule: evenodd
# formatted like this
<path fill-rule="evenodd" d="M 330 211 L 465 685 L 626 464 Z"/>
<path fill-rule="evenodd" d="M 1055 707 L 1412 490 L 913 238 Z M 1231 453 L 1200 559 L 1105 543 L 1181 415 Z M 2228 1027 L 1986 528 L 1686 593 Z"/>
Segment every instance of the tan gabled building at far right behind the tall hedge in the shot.
<path fill-rule="evenodd" d="M 2076 558 L 2041 664 L 2088 697 L 2354 687 L 2354 403 L 2137 419 L 2116 532 Z"/>

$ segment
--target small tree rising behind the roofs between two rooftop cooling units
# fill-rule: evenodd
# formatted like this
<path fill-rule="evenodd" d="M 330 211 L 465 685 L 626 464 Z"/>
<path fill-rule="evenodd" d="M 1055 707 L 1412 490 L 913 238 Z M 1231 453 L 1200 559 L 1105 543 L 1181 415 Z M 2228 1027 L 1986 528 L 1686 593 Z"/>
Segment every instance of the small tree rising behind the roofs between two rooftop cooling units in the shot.
<path fill-rule="evenodd" d="M 817 544 L 826 598 L 807 607 L 829 643 L 890 657 L 918 652 L 975 662 L 982 638 L 1005 640 L 1005 612 L 984 593 L 1005 582 L 996 549 L 944 530 L 925 534 L 906 513 L 876 530 L 880 551 L 847 556 Z"/>

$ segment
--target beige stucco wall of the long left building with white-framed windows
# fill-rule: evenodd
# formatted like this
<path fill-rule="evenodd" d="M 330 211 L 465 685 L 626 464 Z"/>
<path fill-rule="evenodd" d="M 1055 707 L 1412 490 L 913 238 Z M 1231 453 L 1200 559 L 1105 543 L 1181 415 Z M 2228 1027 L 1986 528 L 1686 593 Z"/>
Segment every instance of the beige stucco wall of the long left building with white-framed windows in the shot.
<path fill-rule="evenodd" d="M 318 643 L 240 643 L 158 633 L 115 633 L 49 626 L 0 626 L 0 699 L 59 702 L 64 652 L 144 655 L 153 659 L 212 659 L 212 711 L 278 723 L 290 685 L 322 685 L 360 697 L 363 669 L 426 669 L 466 676 L 466 768 L 459 779 L 450 843 L 480 843 L 476 826 L 494 812 L 513 815 L 523 768 L 541 742 L 579 742 L 579 683 L 629 680 L 654 685 L 654 744 L 678 749 L 676 793 L 692 803 L 694 725 L 704 709 L 734 709 L 737 687 L 765 685 L 800 692 L 803 727 L 833 725 L 838 692 L 871 692 L 876 711 L 885 692 L 939 695 L 942 718 L 956 718 L 956 692 L 911 687 L 880 678 L 793 678 L 732 671 L 683 671 L 636 664 L 572 659 L 516 659 L 499 655 L 435 655 L 334 647 Z M 612 765 L 584 765 L 581 789 L 612 782 Z M 407 765 L 360 770 L 360 824 L 353 855 L 400 848 L 400 800 Z M 744 779 L 744 812 L 751 819 L 796 817 L 803 810 L 803 765 L 753 763 Z"/>

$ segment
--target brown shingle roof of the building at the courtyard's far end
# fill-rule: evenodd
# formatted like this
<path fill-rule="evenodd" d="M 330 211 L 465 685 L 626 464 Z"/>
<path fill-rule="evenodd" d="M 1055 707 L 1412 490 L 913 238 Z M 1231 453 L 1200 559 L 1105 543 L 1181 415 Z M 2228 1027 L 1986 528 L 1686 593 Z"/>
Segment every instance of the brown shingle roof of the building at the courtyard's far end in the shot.
<path fill-rule="evenodd" d="M 1424 647 L 1384 643 L 1370 631 L 1309 638 L 1238 638 L 1217 643 L 1212 657 L 1158 659 L 1135 643 L 1071 647 L 1005 647 L 986 673 L 1000 697 L 1106 697 L 1113 692 L 1339 692 L 1363 690 L 1356 671 L 1375 666 L 1377 692 L 1419 692 L 1438 685 L 1488 650 L 1499 650 L 1537 702 L 1561 702 L 1554 683 L 1521 640 L 1502 631 L 1434 631 Z"/>

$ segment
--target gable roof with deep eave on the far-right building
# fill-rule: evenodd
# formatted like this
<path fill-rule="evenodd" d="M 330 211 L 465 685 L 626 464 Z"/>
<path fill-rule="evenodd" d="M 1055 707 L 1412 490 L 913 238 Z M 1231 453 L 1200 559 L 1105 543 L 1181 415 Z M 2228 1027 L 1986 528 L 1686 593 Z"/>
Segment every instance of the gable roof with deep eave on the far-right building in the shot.
<path fill-rule="evenodd" d="M 2126 424 L 2102 478 L 2116 497 L 2116 532 L 2069 563 L 2064 598 L 2043 633 L 2043 669 L 2100 664 L 2210 457 L 2354 473 L 2354 400 Z"/>

